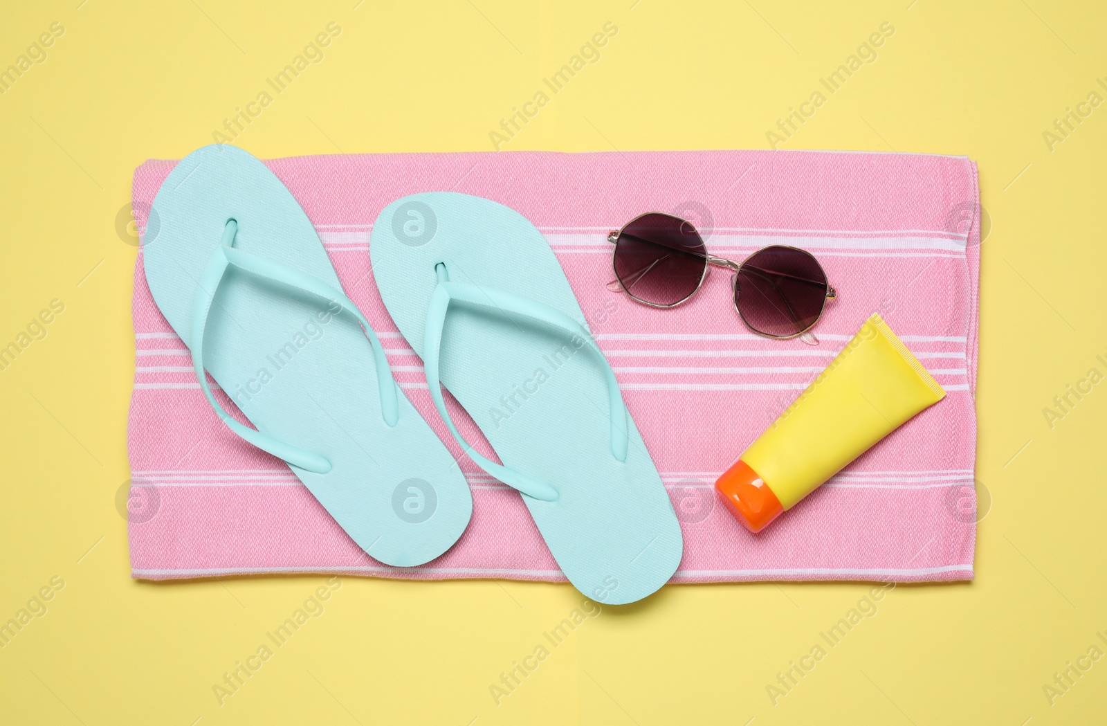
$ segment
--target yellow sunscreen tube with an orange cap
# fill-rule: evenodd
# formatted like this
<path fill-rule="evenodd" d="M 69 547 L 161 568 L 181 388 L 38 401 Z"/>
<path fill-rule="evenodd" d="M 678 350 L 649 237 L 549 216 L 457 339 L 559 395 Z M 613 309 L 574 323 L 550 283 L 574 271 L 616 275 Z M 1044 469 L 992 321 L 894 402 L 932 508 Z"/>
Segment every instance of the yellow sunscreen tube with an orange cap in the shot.
<path fill-rule="evenodd" d="M 945 397 L 880 315 L 777 416 L 715 490 L 758 532 L 907 419 Z"/>

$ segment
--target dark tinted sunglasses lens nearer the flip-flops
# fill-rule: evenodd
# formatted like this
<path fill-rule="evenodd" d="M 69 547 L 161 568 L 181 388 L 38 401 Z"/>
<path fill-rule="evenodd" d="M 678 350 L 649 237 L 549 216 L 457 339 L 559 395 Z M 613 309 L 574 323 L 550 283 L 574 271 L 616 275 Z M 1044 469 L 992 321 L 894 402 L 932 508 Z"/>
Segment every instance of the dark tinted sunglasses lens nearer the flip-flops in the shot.
<path fill-rule="evenodd" d="M 700 287 L 706 267 L 700 232 L 679 217 L 642 215 L 623 227 L 615 241 L 615 276 L 642 302 L 681 302 Z"/>

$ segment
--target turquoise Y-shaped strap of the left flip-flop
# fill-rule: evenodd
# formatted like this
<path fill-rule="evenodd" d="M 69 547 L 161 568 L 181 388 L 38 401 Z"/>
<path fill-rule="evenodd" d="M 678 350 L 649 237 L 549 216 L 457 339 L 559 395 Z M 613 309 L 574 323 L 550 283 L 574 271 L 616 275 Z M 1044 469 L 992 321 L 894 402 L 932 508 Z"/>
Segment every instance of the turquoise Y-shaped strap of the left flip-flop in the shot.
<path fill-rule="evenodd" d="M 286 460 L 293 466 L 298 466 L 315 474 L 327 474 L 331 470 L 331 463 L 327 457 L 314 452 L 309 452 L 308 449 L 299 446 L 278 440 L 272 436 L 262 434 L 261 432 L 250 428 L 249 426 L 244 426 L 219 405 L 219 402 L 216 401 L 215 395 L 211 393 L 211 387 L 207 382 L 207 374 L 204 371 L 204 331 L 207 328 L 208 317 L 211 312 L 211 304 L 215 302 L 216 290 L 219 287 L 219 282 L 223 281 L 224 274 L 227 272 L 227 268 L 234 266 L 240 270 L 249 272 L 250 274 L 263 277 L 302 292 L 338 303 L 341 307 L 340 313 L 349 312 L 353 314 L 358 322 L 361 323 L 361 326 L 365 331 L 365 338 L 373 348 L 373 360 L 376 364 L 376 381 L 381 397 L 381 416 L 384 418 L 385 424 L 389 426 L 395 426 L 400 418 L 400 404 L 396 398 L 396 382 L 392 377 L 392 370 L 389 367 L 389 359 L 385 356 L 384 349 L 381 346 L 381 341 L 377 340 L 376 334 L 373 332 L 373 328 L 369 324 L 369 321 L 365 320 L 365 317 L 360 310 L 358 310 L 358 305 L 345 297 L 345 294 L 325 282 L 322 282 L 310 274 L 304 274 L 300 270 L 288 267 L 287 265 L 281 265 L 280 262 L 275 262 L 273 260 L 258 257 L 257 255 L 251 255 L 240 249 L 235 249 L 232 245 L 237 232 L 238 222 L 229 220 L 227 226 L 224 228 L 220 246 L 216 248 L 216 251 L 211 255 L 211 258 L 208 261 L 207 269 L 204 270 L 204 274 L 200 278 L 199 289 L 196 291 L 196 298 L 193 302 L 192 352 L 193 367 L 196 371 L 196 378 L 199 381 L 200 388 L 204 391 L 204 395 L 207 397 L 208 403 L 211 404 L 211 407 L 215 409 L 216 414 L 218 414 L 219 418 L 223 419 L 223 423 L 225 423 L 230 431 L 235 432 L 235 434 L 246 439 L 254 446 L 257 446 L 262 452 L 272 454 L 273 456 Z"/>

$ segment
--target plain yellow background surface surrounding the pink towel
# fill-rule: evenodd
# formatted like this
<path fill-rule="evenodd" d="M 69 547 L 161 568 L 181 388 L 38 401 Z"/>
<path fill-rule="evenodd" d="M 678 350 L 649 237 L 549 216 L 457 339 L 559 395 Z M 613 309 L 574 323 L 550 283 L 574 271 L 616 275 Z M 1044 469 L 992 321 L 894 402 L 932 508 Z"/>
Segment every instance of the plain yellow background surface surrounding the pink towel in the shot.
<path fill-rule="evenodd" d="M 50 300 L 66 305 L 0 372 L 0 621 L 51 577 L 65 582 L 0 650 L 0 722 L 1103 723 L 1107 660 L 1054 705 L 1043 694 L 1107 631 L 1107 385 L 1052 429 L 1043 415 L 1089 367 L 1107 372 L 1095 359 L 1107 359 L 1107 106 L 1053 151 L 1043 139 L 1107 76 L 1103 3 L 79 2 L 0 12 L 0 68 L 65 28 L 0 96 L 0 342 Z M 210 143 L 330 21 L 342 33 L 324 61 L 239 145 L 262 158 L 490 151 L 499 120 L 611 21 L 601 60 L 505 148 L 765 148 L 776 120 L 891 22 L 879 59 L 782 148 L 980 164 L 992 229 L 977 486 L 992 504 L 975 582 L 887 593 L 775 706 L 766 685 L 869 585 L 669 587 L 604 609 L 496 706 L 488 686 L 576 591 L 343 578 L 219 706 L 211 686 L 323 578 L 131 580 L 115 497 L 130 476 L 135 247 L 116 217 L 135 166 Z"/>

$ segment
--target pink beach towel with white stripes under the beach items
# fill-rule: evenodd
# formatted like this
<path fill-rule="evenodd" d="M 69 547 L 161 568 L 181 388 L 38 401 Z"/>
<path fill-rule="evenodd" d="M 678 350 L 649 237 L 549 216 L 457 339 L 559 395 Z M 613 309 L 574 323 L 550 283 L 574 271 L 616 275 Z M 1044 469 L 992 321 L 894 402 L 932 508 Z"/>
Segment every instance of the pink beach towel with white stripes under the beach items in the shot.
<path fill-rule="evenodd" d="M 146 219 L 176 162 L 135 172 Z M 311 218 L 396 380 L 461 460 L 473 520 L 448 552 L 399 569 L 359 549 L 289 468 L 231 434 L 208 407 L 188 350 L 134 278 L 136 369 L 127 426 L 133 577 L 344 573 L 563 581 L 519 495 L 462 453 L 435 413 L 422 362 L 373 282 L 369 243 L 394 199 L 454 190 L 505 204 L 549 240 L 608 355 L 684 531 L 674 582 L 935 581 L 973 577 L 976 500 L 976 167 L 964 157 L 882 153 L 643 152 L 308 156 L 267 163 Z M 752 334 L 715 270 L 687 303 L 637 304 L 608 290 L 609 229 L 662 210 L 691 219 L 711 251 L 810 250 L 838 289 L 817 346 Z M 712 485 L 880 312 L 948 392 L 759 535 Z M 232 404 L 221 396 L 225 406 Z M 454 405 L 470 442 L 487 443 Z"/>

